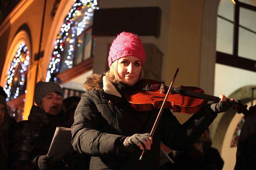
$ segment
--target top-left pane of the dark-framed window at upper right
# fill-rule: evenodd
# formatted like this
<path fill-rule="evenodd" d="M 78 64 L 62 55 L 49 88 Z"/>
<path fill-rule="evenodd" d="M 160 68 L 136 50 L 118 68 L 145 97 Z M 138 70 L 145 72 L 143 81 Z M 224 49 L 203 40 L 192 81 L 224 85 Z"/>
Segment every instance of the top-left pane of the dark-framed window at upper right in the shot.
<path fill-rule="evenodd" d="M 221 0 L 218 9 L 218 15 L 234 21 L 234 7 L 231 0 Z"/>

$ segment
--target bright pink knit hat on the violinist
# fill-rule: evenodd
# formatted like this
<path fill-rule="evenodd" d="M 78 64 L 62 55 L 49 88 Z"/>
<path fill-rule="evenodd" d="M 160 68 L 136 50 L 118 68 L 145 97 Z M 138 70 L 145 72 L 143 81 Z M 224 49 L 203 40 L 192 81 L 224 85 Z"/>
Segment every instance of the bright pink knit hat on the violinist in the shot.
<path fill-rule="evenodd" d="M 142 66 L 146 60 L 146 54 L 140 38 L 130 32 L 121 32 L 114 39 L 108 55 L 108 66 L 125 56 L 138 57 L 142 61 Z"/>

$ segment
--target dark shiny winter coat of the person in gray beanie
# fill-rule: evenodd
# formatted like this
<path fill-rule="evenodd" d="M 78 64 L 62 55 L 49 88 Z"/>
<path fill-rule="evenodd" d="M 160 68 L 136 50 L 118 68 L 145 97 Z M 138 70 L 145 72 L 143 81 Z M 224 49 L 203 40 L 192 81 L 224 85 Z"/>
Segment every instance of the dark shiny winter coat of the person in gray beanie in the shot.
<path fill-rule="evenodd" d="M 64 126 L 65 114 L 57 116 L 45 113 L 33 105 L 28 120 L 17 123 L 13 141 L 12 169 L 31 170 L 39 169 L 36 162 L 40 155 L 49 151 L 52 138 L 57 126 Z M 62 161 L 52 163 L 52 169 L 64 167 Z"/>

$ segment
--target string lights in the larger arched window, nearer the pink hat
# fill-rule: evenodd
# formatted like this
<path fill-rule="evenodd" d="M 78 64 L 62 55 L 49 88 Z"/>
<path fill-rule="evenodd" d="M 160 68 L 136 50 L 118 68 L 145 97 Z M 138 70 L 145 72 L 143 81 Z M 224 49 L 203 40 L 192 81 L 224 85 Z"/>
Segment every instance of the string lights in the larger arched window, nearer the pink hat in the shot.
<path fill-rule="evenodd" d="M 74 2 L 57 36 L 52 52 L 52 60 L 48 66 L 46 81 L 57 80 L 56 74 L 60 71 L 60 60 L 65 63 L 65 65 L 62 65 L 62 67 L 65 66 L 65 69 L 73 67 L 76 37 L 81 35 L 84 29 L 88 28 L 88 25 L 92 22 L 94 10 L 99 10 L 97 0 L 74 0 Z"/>

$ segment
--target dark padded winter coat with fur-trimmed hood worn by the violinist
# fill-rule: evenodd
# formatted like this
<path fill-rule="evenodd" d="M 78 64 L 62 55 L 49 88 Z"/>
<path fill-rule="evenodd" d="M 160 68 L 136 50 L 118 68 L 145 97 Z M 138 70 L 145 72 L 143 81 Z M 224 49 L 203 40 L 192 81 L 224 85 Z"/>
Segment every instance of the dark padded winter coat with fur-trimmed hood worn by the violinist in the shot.
<path fill-rule="evenodd" d="M 113 86 L 100 75 L 88 77 L 84 88 L 87 92 L 76 108 L 75 122 L 71 127 L 72 144 L 76 151 L 92 156 L 92 170 L 159 169 L 160 140 L 173 150 L 183 150 L 193 144 L 217 116 L 203 107 L 200 113 L 181 125 L 169 109 L 164 109 L 151 150 L 146 152 L 143 160 L 139 160 L 139 147 L 132 153 L 117 151 L 118 142 L 123 136 L 149 133 L 158 110 L 133 111 L 121 97 L 127 86 L 120 83 Z"/>

